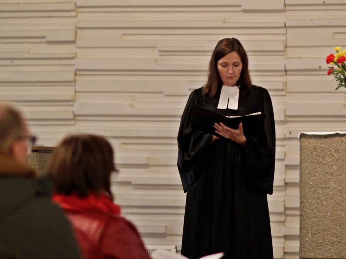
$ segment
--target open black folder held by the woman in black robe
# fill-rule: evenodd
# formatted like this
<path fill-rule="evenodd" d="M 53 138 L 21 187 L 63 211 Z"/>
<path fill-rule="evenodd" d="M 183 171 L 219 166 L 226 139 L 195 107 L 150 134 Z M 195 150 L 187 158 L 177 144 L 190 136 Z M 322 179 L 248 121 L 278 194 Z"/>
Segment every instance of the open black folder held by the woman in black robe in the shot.
<path fill-rule="evenodd" d="M 244 116 L 227 117 L 214 111 L 193 105 L 192 107 L 192 129 L 201 130 L 212 135 L 221 137 L 215 133 L 214 124 L 222 122 L 227 127 L 238 129 L 239 123 L 243 123 L 245 136 L 261 136 L 264 132 L 264 122 L 266 114 L 251 113 Z"/>

